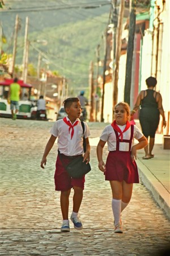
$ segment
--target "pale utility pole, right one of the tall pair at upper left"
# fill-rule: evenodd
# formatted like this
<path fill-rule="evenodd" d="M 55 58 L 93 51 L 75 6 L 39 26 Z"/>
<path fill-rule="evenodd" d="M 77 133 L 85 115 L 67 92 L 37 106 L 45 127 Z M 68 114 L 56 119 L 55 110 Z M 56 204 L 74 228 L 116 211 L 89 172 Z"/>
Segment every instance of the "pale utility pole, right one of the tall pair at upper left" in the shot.
<path fill-rule="evenodd" d="M 28 48 L 29 48 L 29 42 L 28 42 L 28 16 L 25 19 L 25 36 L 24 36 L 24 53 L 23 53 L 23 72 L 22 72 L 22 78 L 23 81 L 27 81 L 27 68 L 28 68 Z"/>

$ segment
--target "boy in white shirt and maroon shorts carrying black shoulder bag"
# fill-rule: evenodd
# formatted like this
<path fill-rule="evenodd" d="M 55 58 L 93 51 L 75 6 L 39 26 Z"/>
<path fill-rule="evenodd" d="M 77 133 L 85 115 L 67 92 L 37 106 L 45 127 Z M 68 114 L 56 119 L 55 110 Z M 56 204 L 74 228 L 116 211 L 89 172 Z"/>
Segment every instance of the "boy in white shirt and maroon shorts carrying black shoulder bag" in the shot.
<path fill-rule="evenodd" d="M 54 181 L 56 185 L 56 191 L 61 191 L 61 212 L 63 217 L 63 224 L 61 226 L 61 232 L 69 232 L 69 196 L 71 188 L 74 188 L 73 196 L 73 212 L 71 213 L 71 221 L 74 224 L 75 229 L 82 229 L 82 222 L 79 219 L 78 212 L 83 199 L 83 189 L 85 176 L 80 179 L 73 179 L 65 170 L 64 165 L 71 162 L 76 156 L 83 154 L 83 129 L 80 123 L 80 114 L 82 109 L 78 98 L 67 98 L 64 102 L 65 112 L 67 117 L 56 121 L 50 130 L 52 134 L 48 143 L 46 144 L 44 155 L 41 160 L 41 168 L 44 169 L 46 165 L 46 157 L 53 147 L 56 138 L 58 137 L 58 150 L 62 161 L 57 156 L 56 160 L 56 172 L 54 174 Z M 84 122 L 84 137 L 86 139 L 86 152 L 83 155 L 83 162 L 90 161 L 90 144 L 88 136 L 90 130 L 87 123 Z"/>

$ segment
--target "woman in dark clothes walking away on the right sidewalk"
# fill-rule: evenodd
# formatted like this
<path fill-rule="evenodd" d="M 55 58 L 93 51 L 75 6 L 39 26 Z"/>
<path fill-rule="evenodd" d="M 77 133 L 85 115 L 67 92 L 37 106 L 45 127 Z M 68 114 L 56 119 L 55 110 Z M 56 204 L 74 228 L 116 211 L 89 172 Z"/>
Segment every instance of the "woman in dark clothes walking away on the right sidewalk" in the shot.
<path fill-rule="evenodd" d="M 155 133 L 158 129 L 160 114 L 163 118 L 163 126 L 166 126 L 164 109 L 162 105 L 162 96 L 159 92 L 154 90 L 157 84 L 155 77 L 148 77 L 146 79 L 147 90 L 142 90 L 134 105 L 133 110 L 131 111 L 131 116 L 140 108 L 139 112 L 139 121 L 141 123 L 142 133 L 149 140 L 149 146 L 144 148 L 145 156 L 142 159 L 151 159 L 154 158 L 152 150 L 155 144 Z"/>

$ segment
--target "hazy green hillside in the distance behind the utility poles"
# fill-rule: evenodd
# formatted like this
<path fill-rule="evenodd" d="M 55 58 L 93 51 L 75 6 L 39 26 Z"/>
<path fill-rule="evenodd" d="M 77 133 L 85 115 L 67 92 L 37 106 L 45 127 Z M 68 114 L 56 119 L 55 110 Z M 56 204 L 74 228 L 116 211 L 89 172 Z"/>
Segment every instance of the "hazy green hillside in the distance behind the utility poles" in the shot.
<path fill-rule="evenodd" d="M 91 60 L 96 62 L 95 51 L 98 44 L 101 45 L 101 55 L 103 55 L 101 37 L 107 27 L 110 6 L 92 8 L 96 3 L 102 2 L 108 1 L 5 1 L 6 8 L 8 6 L 11 9 L 1 13 L 3 32 L 8 39 L 8 44 L 3 44 L 3 49 L 12 53 L 12 33 L 15 16 L 18 13 L 21 28 L 18 34 L 16 64 L 22 64 L 25 17 L 28 16 L 28 39 L 31 42 L 29 63 L 33 63 L 36 67 L 38 58 L 36 49 L 39 49 L 44 53 L 42 58 L 48 60 L 47 65 L 45 62 L 41 65 L 44 67 L 46 65 L 46 68 L 57 70 L 62 76 L 66 76 L 69 86 L 77 94 L 80 89 L 88 88 L 89 64 Z M 69 5 L 70 3 L 74 5 Z M 72 8 L 78 5 L 90 8 Z M 48 8 L 50 10 L 46 10 Z M 58 8 L 63 9 L 58 10 Z M 35 42 L 37 39 L 45 39 L 48 44 L 42 46 Z"/>

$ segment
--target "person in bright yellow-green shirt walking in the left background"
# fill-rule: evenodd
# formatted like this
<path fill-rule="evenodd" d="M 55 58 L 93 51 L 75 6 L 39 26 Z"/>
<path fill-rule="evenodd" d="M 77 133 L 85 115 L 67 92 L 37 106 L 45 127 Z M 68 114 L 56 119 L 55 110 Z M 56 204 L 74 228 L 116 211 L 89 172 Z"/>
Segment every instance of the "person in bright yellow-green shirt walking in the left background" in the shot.
<path fill-rule="evenodd" d="M 8 101 L 10 101 L 10 109 L 12 119 L 16 119 L 16 114 L 19 112 L 19 100 L 20 100 L 21 88 L 18 84 L 18 78 L 15 77 L 14 82 L 10 85 L 8 92 Z"/>

